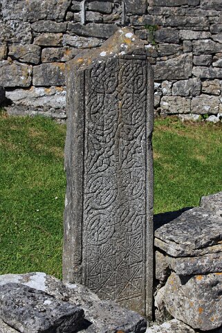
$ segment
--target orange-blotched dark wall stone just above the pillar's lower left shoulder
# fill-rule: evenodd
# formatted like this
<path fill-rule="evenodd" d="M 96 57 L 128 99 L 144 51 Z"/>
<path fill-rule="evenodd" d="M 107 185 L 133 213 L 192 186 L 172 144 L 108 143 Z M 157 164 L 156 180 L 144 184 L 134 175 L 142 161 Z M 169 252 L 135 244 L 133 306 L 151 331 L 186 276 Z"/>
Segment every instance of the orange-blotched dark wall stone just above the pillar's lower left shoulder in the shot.
<path fill-rule="evenodd" d="M 76 48 L 44 48 L 41 53 L 42 62 L 66 62 L 73 59 L 79 51 Z"/>

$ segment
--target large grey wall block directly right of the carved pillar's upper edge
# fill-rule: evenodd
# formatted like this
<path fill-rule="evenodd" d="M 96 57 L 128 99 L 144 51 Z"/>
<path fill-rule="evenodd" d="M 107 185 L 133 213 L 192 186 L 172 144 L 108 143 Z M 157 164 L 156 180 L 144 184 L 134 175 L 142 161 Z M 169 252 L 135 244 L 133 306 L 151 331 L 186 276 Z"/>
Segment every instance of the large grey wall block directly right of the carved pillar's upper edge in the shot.
<path fill-rule="evenodd" d="M 192 75 L 192 54 L 157 62 L 154 66 L 156 80 L 183 80 Z"/>

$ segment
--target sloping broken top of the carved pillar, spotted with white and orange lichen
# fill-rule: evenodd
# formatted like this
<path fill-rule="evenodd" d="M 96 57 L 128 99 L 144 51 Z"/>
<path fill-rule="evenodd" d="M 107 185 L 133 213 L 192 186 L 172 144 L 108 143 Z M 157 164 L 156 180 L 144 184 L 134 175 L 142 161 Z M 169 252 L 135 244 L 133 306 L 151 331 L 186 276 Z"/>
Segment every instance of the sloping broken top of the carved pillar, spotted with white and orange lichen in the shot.
<path fill-rule="evenodd" d="M 118 57 L 132 53 L 134 56 L 141 53 L 141 51 L 145 54 L 146 50 L 150 52 L 150 48 L 153 48 L 153 46 L 145 45 L 144 41 L 133 34 L 133 29 L 120 28 L 100 48 L 83 51 L 73 60 L 67 62 L 67 67 L 69 69 L 74 64 L 79 69 L 85 69 L 86 67 L 92 67 L 95 62 L 102 62 L 107 57 Z"/>

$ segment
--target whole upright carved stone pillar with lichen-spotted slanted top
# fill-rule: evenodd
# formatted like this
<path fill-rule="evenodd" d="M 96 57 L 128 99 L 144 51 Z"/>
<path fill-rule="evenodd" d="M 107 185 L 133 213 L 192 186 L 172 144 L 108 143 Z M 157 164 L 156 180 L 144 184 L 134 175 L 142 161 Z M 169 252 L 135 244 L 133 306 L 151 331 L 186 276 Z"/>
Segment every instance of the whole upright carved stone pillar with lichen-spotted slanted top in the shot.
<path fill-rule="evenodd" d="M 127 28 L 67 68 L 64 280 L 149 317 L 153 71 Z"/>

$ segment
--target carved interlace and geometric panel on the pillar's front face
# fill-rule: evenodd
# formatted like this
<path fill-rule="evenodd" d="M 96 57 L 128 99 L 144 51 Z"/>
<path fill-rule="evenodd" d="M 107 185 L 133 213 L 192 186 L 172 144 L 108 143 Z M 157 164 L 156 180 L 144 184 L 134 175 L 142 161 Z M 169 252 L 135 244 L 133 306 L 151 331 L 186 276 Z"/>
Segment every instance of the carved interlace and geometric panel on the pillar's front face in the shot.
<path fill-rule="evenodd" d="M 102 298 L 144 294 L 147 62 L 86 71 L 84 283 Z"/>

